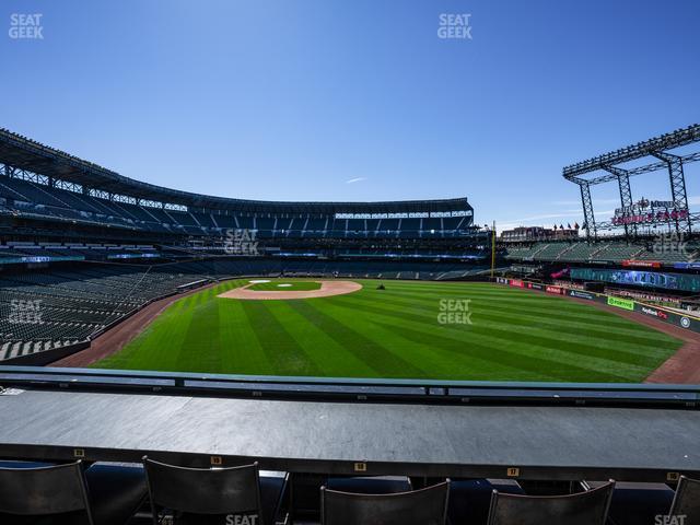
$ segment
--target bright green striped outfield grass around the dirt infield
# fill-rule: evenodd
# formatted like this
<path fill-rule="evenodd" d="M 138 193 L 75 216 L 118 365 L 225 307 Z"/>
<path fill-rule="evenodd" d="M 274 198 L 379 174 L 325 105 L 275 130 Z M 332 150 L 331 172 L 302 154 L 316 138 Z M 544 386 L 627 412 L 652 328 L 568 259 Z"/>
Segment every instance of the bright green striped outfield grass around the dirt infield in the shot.
<path fill-rule="evenodd" d="M 221 283 L 176 301 L 125 349 L 95 365 L 261 375 L 641 382 L 681 345 L 563 298 L 488 283 L 385 281 L 386 290 L 376 290 L 377 281 L 358 282 L 363 289 L 355 293 L 294 301 L 219 299 L 248 280 Z M 470 300 L 471 324 L 438 322 L 441 307 L 460 304 L 448 300 L 465 299 Z"/>

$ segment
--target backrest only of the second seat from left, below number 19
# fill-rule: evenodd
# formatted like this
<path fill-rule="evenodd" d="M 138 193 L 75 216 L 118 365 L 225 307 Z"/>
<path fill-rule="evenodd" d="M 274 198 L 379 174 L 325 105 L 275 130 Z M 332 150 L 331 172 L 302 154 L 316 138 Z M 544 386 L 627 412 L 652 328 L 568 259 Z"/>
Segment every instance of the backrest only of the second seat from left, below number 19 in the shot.
<path fill-rule="evenodd" d="M 143 458 L 151 505 L 189 514 L 260 513 L 258 465 L 186 468 Z"/>

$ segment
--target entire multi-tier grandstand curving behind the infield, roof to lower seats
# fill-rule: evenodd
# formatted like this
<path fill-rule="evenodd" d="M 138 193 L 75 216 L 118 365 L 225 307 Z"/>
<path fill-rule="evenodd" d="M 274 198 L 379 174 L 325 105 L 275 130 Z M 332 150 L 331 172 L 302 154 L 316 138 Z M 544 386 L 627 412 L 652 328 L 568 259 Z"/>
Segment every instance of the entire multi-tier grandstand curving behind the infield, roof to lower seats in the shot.
<path fill-rule="evenodd" d="M 236 276 L 448 279 L 490 264 L 490 231 L 466 198 L 191 194 L 8 130 L 0 170 L 0 360 L 50 362 L 156 299 Z"/>

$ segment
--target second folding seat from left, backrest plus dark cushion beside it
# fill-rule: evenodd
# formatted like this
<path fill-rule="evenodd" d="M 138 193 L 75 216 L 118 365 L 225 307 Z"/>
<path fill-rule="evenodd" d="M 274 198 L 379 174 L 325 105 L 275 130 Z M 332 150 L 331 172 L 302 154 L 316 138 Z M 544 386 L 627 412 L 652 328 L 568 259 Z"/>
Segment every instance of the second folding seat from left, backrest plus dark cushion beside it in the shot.
<path fill-rule="evenodd" d="M 228 468 L 188 468 L 143 457 L 153 524 L 275 523 L 288 476 L 260 477 L 257 463 Z"/>

